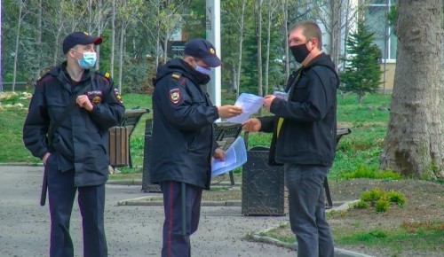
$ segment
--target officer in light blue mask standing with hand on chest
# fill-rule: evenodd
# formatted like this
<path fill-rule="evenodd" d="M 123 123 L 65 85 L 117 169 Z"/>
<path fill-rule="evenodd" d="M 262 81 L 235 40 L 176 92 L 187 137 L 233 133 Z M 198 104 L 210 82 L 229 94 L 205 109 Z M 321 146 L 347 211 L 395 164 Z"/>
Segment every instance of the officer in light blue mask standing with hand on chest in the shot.
<path fill-rule="evenodd" d="M 83 32 L 67 35 L 63 41 L 67 59 L 36 83 L 23 126 L 24 144 L 44 162 L 52 257 L 74 256 L 69 222 L 76 191 L 83 218 L 83 256 L 107 256 L 107 133 L 122 121 L 124 106 L 109 74 L 91 70 L 96 62 L 94 45 L 101 42 Z M 64 113 L 71 103 L 73 107 Z M 50 136 L 56 122 L 59 126 Z"/>

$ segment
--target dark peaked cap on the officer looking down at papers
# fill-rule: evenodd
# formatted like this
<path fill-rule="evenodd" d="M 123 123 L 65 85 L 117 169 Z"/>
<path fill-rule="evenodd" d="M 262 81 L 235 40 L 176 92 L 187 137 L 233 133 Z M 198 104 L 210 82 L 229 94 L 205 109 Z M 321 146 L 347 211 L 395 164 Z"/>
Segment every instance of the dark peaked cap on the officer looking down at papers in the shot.
<path fill-rule="evenodd" d="M 184 53 L 186 55 L 200 58 L 210 67 L 221 66 L 222 62 L 216 55 L 216 50 L 212 43 L 205 39 L 192 39 L 185 45 Z"/>

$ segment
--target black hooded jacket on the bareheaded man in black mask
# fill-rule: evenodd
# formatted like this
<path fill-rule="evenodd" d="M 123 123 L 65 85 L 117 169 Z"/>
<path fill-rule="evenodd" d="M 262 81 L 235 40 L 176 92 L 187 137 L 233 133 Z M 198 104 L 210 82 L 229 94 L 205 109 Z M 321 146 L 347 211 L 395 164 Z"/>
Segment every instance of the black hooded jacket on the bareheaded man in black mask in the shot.
<path fill-rule="evenodd" d="M 289 77 L 289 99 L 274 98 L 270 112 L 259 118 L 261 131 L 272 132 L 270 164 L 330 167 L 336 148 L 339 79 L 328 55 L 321 53 Z M 283 118 L 277 136 L 278 119 Z"/>

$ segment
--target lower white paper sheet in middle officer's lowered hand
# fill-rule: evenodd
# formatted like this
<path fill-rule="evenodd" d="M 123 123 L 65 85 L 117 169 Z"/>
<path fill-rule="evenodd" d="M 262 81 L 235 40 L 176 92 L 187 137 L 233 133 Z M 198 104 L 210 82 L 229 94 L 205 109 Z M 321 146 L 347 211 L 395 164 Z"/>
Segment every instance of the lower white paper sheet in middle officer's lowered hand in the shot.
<path fill-rule="evenodd" d="M 213 160 L 211 162 L 211 176 L 224 174 L 236 167 L 241 167 L 245 162 L 247 162 L 247 150 L 242 137 L 239 136 L 226 150 L 225 160 Z"/>

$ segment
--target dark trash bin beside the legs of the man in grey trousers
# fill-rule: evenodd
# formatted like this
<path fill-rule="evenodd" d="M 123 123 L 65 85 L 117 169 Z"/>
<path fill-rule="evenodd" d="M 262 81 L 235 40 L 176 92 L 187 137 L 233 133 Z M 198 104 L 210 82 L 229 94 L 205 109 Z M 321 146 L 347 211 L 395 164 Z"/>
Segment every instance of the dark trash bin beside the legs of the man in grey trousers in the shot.
<path fill-rule="evenodd" d="M 283 166 L 268 165 L 269 148 L 247 151 L 242 167 L 242 214 L 285 215 L 288 212 Z"/>

